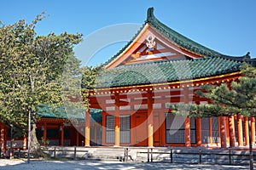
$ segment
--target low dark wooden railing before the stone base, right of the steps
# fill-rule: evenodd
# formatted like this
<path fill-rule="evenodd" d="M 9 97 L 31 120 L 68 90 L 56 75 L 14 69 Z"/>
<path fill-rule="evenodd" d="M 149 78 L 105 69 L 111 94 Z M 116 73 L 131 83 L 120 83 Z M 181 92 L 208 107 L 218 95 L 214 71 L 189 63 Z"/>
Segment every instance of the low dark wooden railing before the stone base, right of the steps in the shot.
<path fill-rule="evenodd" d="M 166 161 L 171 163 L 197 163 L 197 164 L 248 164 L 248 150 L 203 150 L 203 149 L 173 149 L 157 150 L 148 148 L 146 151 L 140 151 L 138 154 L 147 155 L 148 162 Z M 256 158 L 256 152 L 254 160 Z M 144 157 L 143 156 L 143 157 Z"/>

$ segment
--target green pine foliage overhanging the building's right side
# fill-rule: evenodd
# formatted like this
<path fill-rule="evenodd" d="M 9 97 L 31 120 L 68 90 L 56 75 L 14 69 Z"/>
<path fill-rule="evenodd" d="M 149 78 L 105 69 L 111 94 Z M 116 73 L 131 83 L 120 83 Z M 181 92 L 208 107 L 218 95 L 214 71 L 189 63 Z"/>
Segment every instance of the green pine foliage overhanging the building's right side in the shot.
<path fill-rule="evenodd" d="M 187 116 L 256 116 L 256 70 L 250 65 L 241 66 L 242 77 L 238 82 L 232 82 L 230 88 L 226 83 L 220 86 L 202 86 L 196 94 L 210 99 L 212 104 L 169 105 L 176 114 L 186 112 Z M 181 108 L 188 108 L 183 110 Z"/>

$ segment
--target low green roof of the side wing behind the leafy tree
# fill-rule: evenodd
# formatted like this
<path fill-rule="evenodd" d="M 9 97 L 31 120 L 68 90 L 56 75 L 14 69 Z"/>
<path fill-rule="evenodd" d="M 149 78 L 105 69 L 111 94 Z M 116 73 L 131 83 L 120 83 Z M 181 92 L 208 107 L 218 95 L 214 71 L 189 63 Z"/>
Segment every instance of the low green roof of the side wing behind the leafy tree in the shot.
<path fill-rule="evenodd" d="M 59 106 L 55 109 L 49 105 L 40 105 L 38 107 L 38 115 L 43 118 L 59 118 L 59 119 L 77 119 L 79 122 L 84 122 L 84 111 L 78 111 L 74 114 L 68 114 L 64 106 Z M 90 109 L 90 122 L 102 122 L 102 110 Z"/>

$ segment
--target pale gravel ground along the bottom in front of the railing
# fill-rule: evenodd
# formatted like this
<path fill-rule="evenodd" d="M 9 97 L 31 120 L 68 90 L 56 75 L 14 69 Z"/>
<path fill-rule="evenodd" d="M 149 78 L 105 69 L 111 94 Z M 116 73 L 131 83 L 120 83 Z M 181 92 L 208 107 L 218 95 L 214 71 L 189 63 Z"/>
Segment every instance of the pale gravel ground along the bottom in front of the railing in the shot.
<path fill-rule="evenodd" d="M 224 166 L 224 165 L 197 165 L 197 164 L 174 164 L 160 162 L 119 162 L 119 161 L 44 161 L 31 160 L 0 160 L 2 170 L 82 170 L 82 169 L 249 169 L 248 166 Z"/>

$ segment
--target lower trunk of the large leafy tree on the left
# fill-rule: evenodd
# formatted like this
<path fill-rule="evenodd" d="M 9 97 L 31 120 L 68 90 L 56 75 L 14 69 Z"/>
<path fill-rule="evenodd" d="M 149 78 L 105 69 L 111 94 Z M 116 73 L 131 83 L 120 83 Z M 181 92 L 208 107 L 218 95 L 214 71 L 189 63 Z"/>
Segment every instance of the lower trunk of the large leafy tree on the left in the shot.
<path fill-rule="evenodd" d="M 32 131 L 31 131 L 31 152 L 34 158 L 44 157 L 44 152 L 38 143 L 37 135 L 36 135 L 37 126 L 35 123 L 32 123 Z"/>

